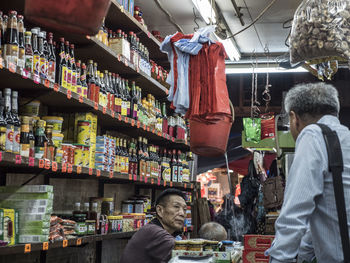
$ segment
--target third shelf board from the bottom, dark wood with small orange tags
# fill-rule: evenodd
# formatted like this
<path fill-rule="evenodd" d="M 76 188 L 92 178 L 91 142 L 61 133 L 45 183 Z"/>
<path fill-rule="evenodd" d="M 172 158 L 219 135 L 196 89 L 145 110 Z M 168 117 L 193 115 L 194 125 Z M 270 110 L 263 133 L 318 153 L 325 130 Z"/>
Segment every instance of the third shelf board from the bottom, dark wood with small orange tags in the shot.
<path fill-rule="evenodd" d="M 141 125 L 140 122 L 121 116 L 114 111 L 106 109 L 90 99 L 84 98 L 75 92 L 58 86 L 47 80 L 39 80 L 35 83 L 32 77 L 23 78 L 20 74 L 12 73 L 6 68 L 0 70 L 0 79 L 2 87 L 11 88 L 20 91 L 20 96 L 35 97 L 41 100 L 44 105 L 55 108 L 55 111 L 91 111 L 98 116 L 98 123 L 105 130 L 113 129 L 121 133 L 127 133 L 129 136 L 147 137 L 151 143 L 163 147 L 174 149 L 189 150 L 188 142 L 177 143 L 174 137 L 168 134 L 157 132 L 149 126 Z"/>

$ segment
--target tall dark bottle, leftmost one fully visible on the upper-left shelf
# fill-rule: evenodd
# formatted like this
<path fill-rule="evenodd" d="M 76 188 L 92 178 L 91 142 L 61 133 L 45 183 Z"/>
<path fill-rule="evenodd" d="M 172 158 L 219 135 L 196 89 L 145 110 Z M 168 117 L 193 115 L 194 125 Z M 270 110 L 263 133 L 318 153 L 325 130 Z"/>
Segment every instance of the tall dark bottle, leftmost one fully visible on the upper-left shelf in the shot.
<path fill-rule="evenodd" d="M 10 11 L 5 31 L 4 59 L 8 68 L 16 70 L 18 60 L 17 12 Z"/>

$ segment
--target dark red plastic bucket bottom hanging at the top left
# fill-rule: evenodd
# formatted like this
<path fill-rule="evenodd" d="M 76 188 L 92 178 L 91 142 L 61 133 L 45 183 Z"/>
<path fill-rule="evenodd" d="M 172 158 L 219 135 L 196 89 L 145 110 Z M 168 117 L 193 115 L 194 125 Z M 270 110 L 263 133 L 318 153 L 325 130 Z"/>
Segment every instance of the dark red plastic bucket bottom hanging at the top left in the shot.
<path fill-rule="evenodd" d="M 24 16 L 56 31 L 96 35 L 109 6 L 110 0 L 26 0 Z"/>

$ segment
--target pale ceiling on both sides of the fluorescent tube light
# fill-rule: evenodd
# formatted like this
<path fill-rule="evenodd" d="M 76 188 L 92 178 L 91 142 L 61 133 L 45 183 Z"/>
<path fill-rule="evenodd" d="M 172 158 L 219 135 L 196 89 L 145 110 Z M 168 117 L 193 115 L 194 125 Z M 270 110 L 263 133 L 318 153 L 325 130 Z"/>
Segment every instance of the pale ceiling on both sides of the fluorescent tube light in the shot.
<path fill-rule="evenodd" d="M 172 16 L 184 33 L 192 33 L 195 30 L 193 3 L 192 0 L 158 0 L 165 10 Z M 210 0 L 209 0 L 210 1 Z M 260 12 L 271 2 L 271 0 L 235 0 L 242 13 L 242 19 L 245 26 L 252 22 Z M 165 13 L 156 4 L 157 0 L 135 0 L 135 5 L 141 7 L 145 23 L 150 30 L 159 30 L 163 36 L 173 34 L 177 28 L 171 23 Z M 293 18 L 294 12 L 301 0 L 276 0 L 273 6 L 264 14 L 264 16 L 246 31 L 234 37 L 242 57 L 250 57 L 256 53 L 264 53 L 264 47 L 267 46 L 270 53 L 286 53 L 288 48 L 285 40 L 289 29 L 283 28 L 283 22 Z M 226 20 L 229 29 L 234 34 L 243 28 L 231 0 L 216 0 L 217 10 L 220 10 Z M 200 26 L 205 26 L 200 18 L 198 11 L 196 21 Z M 289 23 L 290 25 L 290 23 Z"/>

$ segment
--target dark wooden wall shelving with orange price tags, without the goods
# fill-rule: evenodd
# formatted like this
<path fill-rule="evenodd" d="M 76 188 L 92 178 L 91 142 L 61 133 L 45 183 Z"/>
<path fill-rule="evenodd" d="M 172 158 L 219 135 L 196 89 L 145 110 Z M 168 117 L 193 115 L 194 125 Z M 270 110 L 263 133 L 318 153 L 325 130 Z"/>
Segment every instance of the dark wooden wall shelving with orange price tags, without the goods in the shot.
<path fill-rule="evenodd" d="M 17 10 L 23 14 L 25 0 L 4 1 L 0 5 L 0 9 L 5 13 L 8 10 Z M 126 12 L 116 0 L 111 0 L 111 7 L 105 20 L 106 26 L 117 30 L 122 29 L 125 32 L 134 31 L 140 38 L 141 42 L 149 49 L 150 58 L 158 65 L 169 68 L 167 55 L 159 50 L 160 42 L 134 17 Z M 27 28 L 31 25 L 25 21 Z M 45 30 L 45 28 L 43 28 Z M 46 30 L 51 32 L 50 30 Z M 134 80 L 136 85 L 140 86 L 145 96 L 147 93 L 153 94 L 159 100 L 165 100 L 168 95 L 168 89 L 160 82 L 140 71 L 124 57 L 117 55 L 112 49 L 105 46 L 93 36 L 75 35 L 66 32 L 55 32 L 54 38 L 64 37 L 66 40 L 75 44 L 76 60 L 87 62 L 93 59 L 98 63 L 98 68 L 118 73 L 122 77 Z M 1 64 L 1 63 L 0 63 Z M 1 64 L 2 65 L 2 64 Z M 43 101 L 46 106 L 54 107 L 58 112 L 78 112 L 91 111 L 98 116 L 98 124 L 105 130 L 117 129 L 120 133 L 127 133 L 131 137 L 143 136 L 149 139 L 149 142 L 162 147 L 171 149 L 179 149 L 183 151 L 190 150 L 189 142 L 178 141 L 176 138 L 167 134 L 160 133 L 151 129 L 151 127 L 141 125 L 140 122 L 121 116 L 120 114 L 106 109 L 93 101 L 71 92 L 55 83 L 47 80 L 35 78 L 34 76 L 25 77 L 17 72 L 0 65 L 0 83 L 1 87 L 18 90 L 20 96 L 29 96 L 37 100 Z M 93 179 L 98 181 L 98 195 L 104 196 L 105 184 L 123 184 L 125 186 L 135 185 L 135 191 L 140 189 L 151 189 L 152 199 L 155 198 L 156 190 L 165 188 L 178 188 L 183 191 L 192 192 L 193 197 L 195 191 L 199 189 L 198 183 L 179 183 L 167 182 L 157 178 L 141 177 L 139 175 L 120 174 L 116 172 L 106 172 L 96 169 L 89 169 L 75 165 L 62 165 L 44 159 L 26 158 L 20 155 L 0 152 L 0 185 L 6 185 L 6 174 L 28 174 L 26 179 L 30 181 L 38 175 L 45 175 L 44 181 L 49 183 L 50 179 Z M 33 176 L 30 176 L 33 175 Z M 124 186 L 123 186 L 124 187 Z M 191 204 L 192 205 L 192 204 Z M 184 232 L 194 231 L 195 226 L 185 227 Z M 77 237 L 74 239 L 45 242 L 19 244 L 8 247 L 0 247 L 0 256 L 13 254 L 31 254 L 31 252 L 41 253 L 40 262 L 46 262 L 46 253 L 58 248 L 74 248 L 83 247 L 86 244 L 96 244 L 96 262 L 101 262 L 102 242 L 106 240 L 122 240 L 131 238 L 135 232 L 111 233 L 107 235 L 91 235 Z M 111 253 L 116 251 L 111 251 Z M 118 253 L 118 251 L 117 251 Z M 1 262 L 1 257 L 0 257 Z"/>

